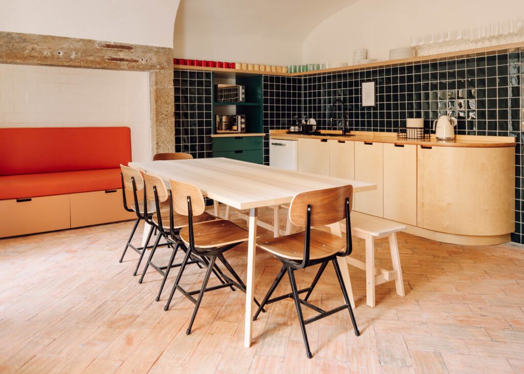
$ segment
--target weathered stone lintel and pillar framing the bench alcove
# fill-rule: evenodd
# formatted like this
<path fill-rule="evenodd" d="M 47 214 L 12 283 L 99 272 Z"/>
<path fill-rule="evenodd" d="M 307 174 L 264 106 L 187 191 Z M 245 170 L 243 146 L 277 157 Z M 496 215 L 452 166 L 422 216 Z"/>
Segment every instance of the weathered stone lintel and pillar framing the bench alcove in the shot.
<path fill-rule="evenodd" d="M 0 31 L 0 63 L 149 72 L 152 152 L 174 151 L 173 51 Z"/>

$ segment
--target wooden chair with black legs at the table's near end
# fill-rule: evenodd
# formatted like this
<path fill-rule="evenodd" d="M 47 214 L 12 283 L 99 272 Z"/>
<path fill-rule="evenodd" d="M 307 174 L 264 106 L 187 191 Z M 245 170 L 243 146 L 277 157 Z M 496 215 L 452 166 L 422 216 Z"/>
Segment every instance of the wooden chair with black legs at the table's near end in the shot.
<path fill-rule="evenodd" d="M 282 262 L 282 268 L 278 272 L 273 284 L 271 284 L 271 287 L 264 297 L 259 309 L 255 313 L 253 320 L 256 320 L 260 311 L 266 304 L 292 298 L 297 309 L 308 358 L 311 358 L 312 355 L 309 348 L 308 335 L 305 331 L 305 325 L 311 322 L 318 321 L 321 318 L 347 309 L 350 312 L 355 335 L 360 335 L 353 310 L 351 309 L 350 300 L 346 292 L 339 263 L 337 262 L 337 257 L 345 257 L 350 255 L 352 251 L 350 221 L 352 196 L 353 187 L 351 185 L 299 193 L 294 196 L 291 201 L 289 207 L 289 219 L 294 225 L 305 226 L 305 231 L 278 238 L 263 239 L 257 243 L 260 248 L 271 252 L 275 258 Z M 311 228 L 311 226 L 325 226 L 338 223 L 344 218 L 346 219 L 345 238 Z M 345 304 L 332 310 L 325 311 L 320 307 L 309 303 L 308 299 L 330 261 L 335 268 L 335 273 L 339 280 Z M 319 264 L 320 268 L 316 273 L 311 286 L 298 290 L 294 272 L 299 269 L 305 269 Z M 288 273 L 292 292 L 270 299 L 272 293 L 275 291 L 286 272 Z M 304 299 L 300 299 L 300 294 L 304 292 L 306 292 Z M 311 308 L 319 314 L 304 321 L 301 304 Z"/>

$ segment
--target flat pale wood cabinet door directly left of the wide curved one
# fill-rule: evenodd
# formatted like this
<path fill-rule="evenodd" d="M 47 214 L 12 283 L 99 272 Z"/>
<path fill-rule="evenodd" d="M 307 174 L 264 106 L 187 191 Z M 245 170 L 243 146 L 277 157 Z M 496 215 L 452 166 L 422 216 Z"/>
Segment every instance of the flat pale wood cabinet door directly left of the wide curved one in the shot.
<path fill-rule="evenodd" d="M 417 146 L 385 143 L 384 218 L 417 225 Z"/>

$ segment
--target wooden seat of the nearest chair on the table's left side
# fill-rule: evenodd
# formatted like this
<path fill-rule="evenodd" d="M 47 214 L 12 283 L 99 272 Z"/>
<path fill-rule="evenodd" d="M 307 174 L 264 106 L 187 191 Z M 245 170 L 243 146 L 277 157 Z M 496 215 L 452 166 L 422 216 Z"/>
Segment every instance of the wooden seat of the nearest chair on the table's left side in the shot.
<path fill-rule="evenodd" d="M 242 243 L 248 239 L 248 231 L 226 219 L 204 222 L 193 227 L 195 248 L 214 248 Z M 180 238 L 189 243 L 189 227 L 180 230 Z"/>

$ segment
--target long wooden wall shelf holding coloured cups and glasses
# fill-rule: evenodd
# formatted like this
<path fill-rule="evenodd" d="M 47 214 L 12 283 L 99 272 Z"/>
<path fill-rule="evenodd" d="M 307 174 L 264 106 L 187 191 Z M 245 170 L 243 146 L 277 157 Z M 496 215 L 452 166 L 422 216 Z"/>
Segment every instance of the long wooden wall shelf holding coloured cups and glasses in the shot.
<path fill-rule="evenodd" d="M 476 56 L 483 56 L 483 55 L 485 56 L 493 52 L 511 52 L 511 51 L 518 50 L 519 48 L 524 48 L 524 42 L 510 43 L 510 44 L 504 44 L 504 45 L 492 46 L 492 47 L 467 49 L 464 51 L 431 54 L 430 56 L 412 57 L 409 59 L 375 61 L 375 62 L 361 64 L 361 65 L 351 65 L 351 66 L 345 66 L 345 67 L 340 67 L 340 68 L 314 70 L 314 71 L 307 71 L 303 73 L 273 73 L 273 72 L 266 72 L 266 71 L 252 71 L 252 70 L 240 70 L 240 69 L 205 68 L 205 67 L 200 67 L 200 66 L 189 66 L 189 65 L 173 65 L 173 68 L 180 69 L 180 70 L 212 71 L 215 73 L 219 73 L 220 76 L 222 75 L 234 76 L 238 74 L 240 75 L 304 76 L 304 75 L 331 73 L 331 72 L 339 72 L 339 71 L 353 71 L 353 70 L 370 69 L 370 68 L 382 68 L 382 67 L 387 67 L 387 66 L 392 66 L 392 65 L 408 65 L 408 64 L 412 64 L 416 62 L 449 60 L 449 59 L 455 59 L 458 57 L 467 58 L 467 57 L 476 57 Z"/>

